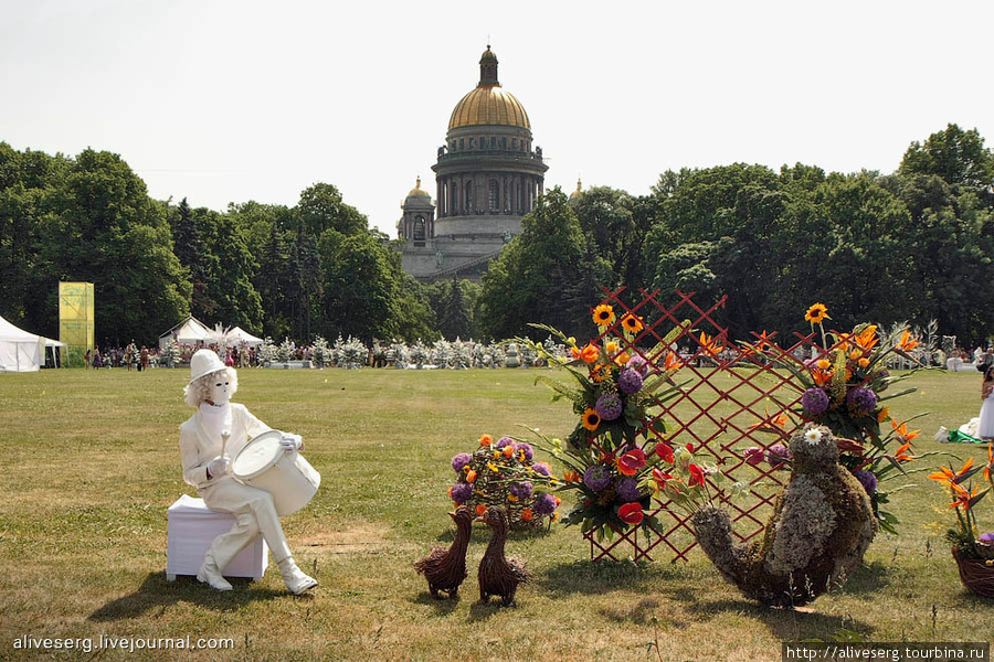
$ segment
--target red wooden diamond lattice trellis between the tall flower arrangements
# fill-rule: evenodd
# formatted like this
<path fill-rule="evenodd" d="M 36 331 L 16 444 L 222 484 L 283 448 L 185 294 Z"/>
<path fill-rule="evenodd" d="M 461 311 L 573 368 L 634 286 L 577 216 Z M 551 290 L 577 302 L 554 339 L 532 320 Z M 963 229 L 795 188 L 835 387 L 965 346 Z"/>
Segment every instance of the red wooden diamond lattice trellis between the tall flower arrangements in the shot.
<path fill-rule="evenodd" d="M 607 296 L 602 303 L 621 312 L 618 319 L 631 312 L 646 320 L 645 329 L 631 343 L 615 327 L 609 328 L 604 335 L 610 334 L 626 343 L 630 353 L 639 354 L 653 366 L 664 365 L 669 352 L 685 348 L 677 381 L 690 381 L 676 398 L 658 403 L 663 412 L 657 418 L 663 418 L 667 428 L 665 438 L 680 445 L 692 444 L 697 455 L 711 455 L 722 473 L 732 480 L 749 484 L 761 481 L 781 484 L 772 468 L 745 465 L 742 450 L 747 445 L 765 449 L 796 429 L 790 420 L 785 427 L 781 426 L 780 435 L 775 437 L 760 429 L 775 428 L 774 419 L 784 409 L 796 405 L 801 397 L 792 376 L 785 371 L 774 370 L 774 363 L 769 359 L 800 363 L 796 354 L 811 355 L 812 348 L 817 348 L 814 334 L 799 334 L 797 341 L 784 349 L 773 344 L 775 334 L 753 332 L 754 339 L 750 342 L 762 350 L 764 357 L 760 357 L 747 346 L 730 345 L 728 330 L 716 322 L 716 312 L 725 308 L 727 297 L 702 309 L 694 301 L 692 292 L 676 291 L 678 300 L 667 307 L 657 299 L 658 290 L 639 290 L 642 300 L 630 307 L 621 299 L 625 288 L 617 291 L 605 288 L 604 291 Z M 646 348 L 662 343 L 674 328 L 680 329 L 679 334 L 657 354 L 647 355 L 651 350 Z M 701 333 L 707 338 L 702 338 Z M 815 353 L 824 355 L 827 350 L 817 348 Z M 772 505 L 772 501 L 773 495 L 763 496 L 753 492 L 747 501 L 727 503 L 737 523 L 736 535 L 739 538 L 749 540 L 762 531 L 765 524 L 763 511 Z M 663 524 L 663 531 L 652 528 L 652 533 L 646 534 L 638 527 L 625 532 L 612 527 L 614 535 L 606 538 L 603 532 L 599 534 L 599 530 L 594 528 L 584 534 L 590 542 L 591 559 L 617 560 L 620 556 L 627 556 L 631 549 L 634 560 L 653 560 L 652 554 L 660 545 L 673 553 L 673 560 L 686 559 L 687 553 L 697 544 L 688 524 L 689 516 L 669 508 L 668 501 L 656 501 L 655 505 L 651 514 Z"/>

